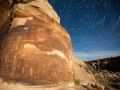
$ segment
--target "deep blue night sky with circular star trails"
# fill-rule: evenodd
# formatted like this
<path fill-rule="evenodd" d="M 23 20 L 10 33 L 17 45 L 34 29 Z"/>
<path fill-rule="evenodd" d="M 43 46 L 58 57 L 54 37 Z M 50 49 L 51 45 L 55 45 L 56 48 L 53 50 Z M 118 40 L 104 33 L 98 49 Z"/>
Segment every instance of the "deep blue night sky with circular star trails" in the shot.
<path fill-rule="evenodd" d="M 48 0 L 70 34 L 74 56 L 120 55 L 120 0 Z"/>

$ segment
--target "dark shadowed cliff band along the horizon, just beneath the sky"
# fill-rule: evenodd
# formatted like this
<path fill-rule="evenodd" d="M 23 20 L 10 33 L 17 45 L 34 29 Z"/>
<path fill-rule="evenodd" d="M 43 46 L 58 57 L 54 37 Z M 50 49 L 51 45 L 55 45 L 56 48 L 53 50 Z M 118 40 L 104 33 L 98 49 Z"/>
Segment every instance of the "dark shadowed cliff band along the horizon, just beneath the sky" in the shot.
<path fill-rule="evenodd" d="M 98 70 L 120 72 L 120 56 L 87 61 L 86 63 Z"/>

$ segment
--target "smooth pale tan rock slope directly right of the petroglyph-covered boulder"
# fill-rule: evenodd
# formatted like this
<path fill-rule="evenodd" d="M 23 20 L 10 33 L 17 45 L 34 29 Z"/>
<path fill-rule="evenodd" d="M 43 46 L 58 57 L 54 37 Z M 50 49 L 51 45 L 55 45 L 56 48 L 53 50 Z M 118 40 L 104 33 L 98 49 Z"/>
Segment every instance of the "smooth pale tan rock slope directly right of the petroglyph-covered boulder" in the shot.
<path fill-rule="evenodd" d="M 81 84 L 96 83 L 94 75 L 87 65 L 79 58 L 74 57 L 73 59 L 73 71 L 74 77 L 80 80 Z"/>

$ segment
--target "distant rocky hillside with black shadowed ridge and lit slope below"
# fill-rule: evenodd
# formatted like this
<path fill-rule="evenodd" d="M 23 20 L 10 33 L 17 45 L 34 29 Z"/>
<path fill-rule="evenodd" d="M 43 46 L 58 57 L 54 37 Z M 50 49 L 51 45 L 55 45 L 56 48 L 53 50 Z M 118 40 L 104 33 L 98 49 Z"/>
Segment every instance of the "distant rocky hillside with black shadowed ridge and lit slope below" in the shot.
<path fill-rule="evenodd" d="M 106 90 L 120 89 L 120 56 L 87 61 L 96 79 L 104 83 Z"/>

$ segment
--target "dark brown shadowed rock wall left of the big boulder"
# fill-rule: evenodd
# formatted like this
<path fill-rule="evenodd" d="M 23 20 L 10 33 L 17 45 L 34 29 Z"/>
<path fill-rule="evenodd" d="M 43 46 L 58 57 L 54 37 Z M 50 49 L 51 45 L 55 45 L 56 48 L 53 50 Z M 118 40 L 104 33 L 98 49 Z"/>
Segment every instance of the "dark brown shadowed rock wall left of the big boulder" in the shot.
<path fill-rule="evenodd" d="M 9 1 L 0 1 L 0 48 L 6 33 L 10 28 L 11 5 Z"/>

